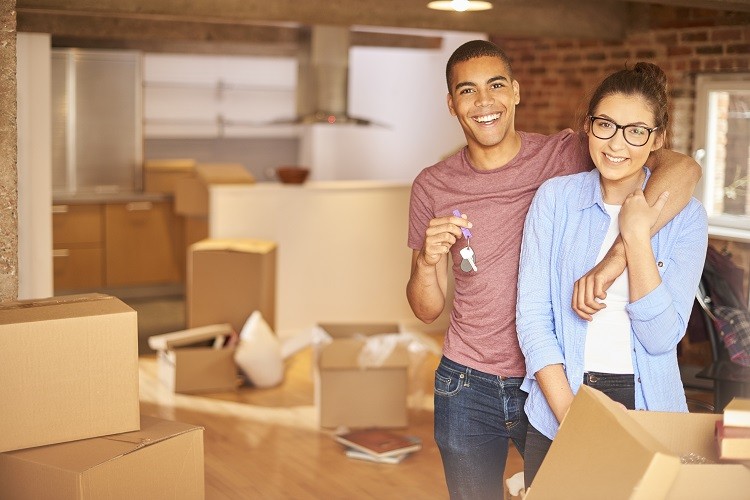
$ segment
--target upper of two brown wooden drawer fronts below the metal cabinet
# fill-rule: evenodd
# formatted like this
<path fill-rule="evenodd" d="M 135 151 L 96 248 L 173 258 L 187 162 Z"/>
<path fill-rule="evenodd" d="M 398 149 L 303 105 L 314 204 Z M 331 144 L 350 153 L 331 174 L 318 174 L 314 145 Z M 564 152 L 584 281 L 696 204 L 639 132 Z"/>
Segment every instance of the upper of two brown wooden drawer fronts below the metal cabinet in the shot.
<path fill-rule="evenodd" d="M 69 245 L 101 246 L 104 240 L 102 206 L 53 205 L 52 244 L 55 248 Z"/>

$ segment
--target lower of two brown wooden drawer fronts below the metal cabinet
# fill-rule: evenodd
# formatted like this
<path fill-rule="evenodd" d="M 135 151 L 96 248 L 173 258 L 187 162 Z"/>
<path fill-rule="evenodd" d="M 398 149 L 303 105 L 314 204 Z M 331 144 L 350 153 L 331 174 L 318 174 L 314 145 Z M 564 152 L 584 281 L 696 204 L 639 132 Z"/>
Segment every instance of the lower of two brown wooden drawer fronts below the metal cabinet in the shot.
<path fill-rule="evenodd" d="M 104 286 L 101 248 L 58 248 L 52 256 L 56 291 Z"/>

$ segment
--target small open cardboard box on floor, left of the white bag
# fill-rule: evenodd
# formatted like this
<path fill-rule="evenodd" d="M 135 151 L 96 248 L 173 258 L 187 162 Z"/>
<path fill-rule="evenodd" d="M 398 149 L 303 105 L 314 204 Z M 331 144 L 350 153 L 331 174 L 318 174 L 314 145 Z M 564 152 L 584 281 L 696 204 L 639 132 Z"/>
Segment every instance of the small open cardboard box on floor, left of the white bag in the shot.
<path fill-rule="evenodd" d="M 157 351 L 159 381 L 186 394 L 235 390 L 235 349 L 224 347 L 233 334 L 232 325 L 224 323 L 149 337 L 149 347 Z"/>

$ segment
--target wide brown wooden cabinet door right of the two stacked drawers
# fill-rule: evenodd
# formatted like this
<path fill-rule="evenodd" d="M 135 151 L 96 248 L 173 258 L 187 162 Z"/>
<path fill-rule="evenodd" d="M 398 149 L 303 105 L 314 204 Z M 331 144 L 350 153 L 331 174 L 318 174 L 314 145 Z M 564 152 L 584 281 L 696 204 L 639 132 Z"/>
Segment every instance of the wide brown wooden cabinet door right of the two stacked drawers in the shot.
<path fill-rule="evenodd" d="M 182 224 L 170 202 L 108 203 L 105 214 L 107 286 L 181 282 Z"/>

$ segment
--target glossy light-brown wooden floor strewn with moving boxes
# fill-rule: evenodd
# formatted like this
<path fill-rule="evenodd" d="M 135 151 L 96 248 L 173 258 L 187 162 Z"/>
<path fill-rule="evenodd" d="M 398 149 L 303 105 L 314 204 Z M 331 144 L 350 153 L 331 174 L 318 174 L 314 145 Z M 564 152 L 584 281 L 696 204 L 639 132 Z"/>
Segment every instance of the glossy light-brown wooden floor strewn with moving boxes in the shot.
<path fill-rule="evenodd" d="M 439 451 L 433 440 L 432 377 L 428 355 L 410 375 L 409 426 L 423 449 L 397 465 L 347 458 L 331 431 L 317 426 L 311 349 L 287 359 L 283 384 L 272 389 L 188 396 L 156 380 L 156 360 L 140 358 L 141 411 L 201 425 L 206 498 L 219 499 L 445 499 Z M 512 448 L 512 447 L 511 447 Z M 506 477 L 522 470 L 512 448 Z"/>

